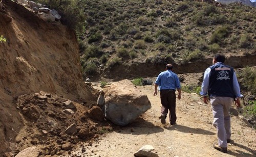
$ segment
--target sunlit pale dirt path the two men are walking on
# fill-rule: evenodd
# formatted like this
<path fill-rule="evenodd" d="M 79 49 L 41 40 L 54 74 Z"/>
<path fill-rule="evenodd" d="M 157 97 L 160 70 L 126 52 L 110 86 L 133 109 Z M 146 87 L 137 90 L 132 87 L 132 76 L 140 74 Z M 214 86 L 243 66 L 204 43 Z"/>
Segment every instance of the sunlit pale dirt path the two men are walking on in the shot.
<path fill-rule="evenodd" d="M 72 154 L 81 156 L 134 156 L 144 145 L 152 145 L 159 156 L 256 156 L 256 132 L 247 127 L 239 117 L 231 117 L 232 137 L 228 153 L 212 147 L 217 142 L 212 126 L 210 105 L 202 103 L 196 94 L 182 92 L 177 99 L 177 125 L 161 124 L 159 93 L 153 96 L 154 86 L 138 86 L 148 96 L 152 109 L 135 122 L 104 134 L 98 142 L 81 143 Z M 85 148 L 85 149 L 84 149 Z"/>

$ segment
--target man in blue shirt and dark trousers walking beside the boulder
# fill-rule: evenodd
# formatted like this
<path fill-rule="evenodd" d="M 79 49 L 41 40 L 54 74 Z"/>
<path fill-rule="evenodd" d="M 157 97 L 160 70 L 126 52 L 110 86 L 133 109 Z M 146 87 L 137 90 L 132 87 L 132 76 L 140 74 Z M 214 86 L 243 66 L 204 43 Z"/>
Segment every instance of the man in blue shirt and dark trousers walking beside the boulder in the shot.
<path fill-rule="evenodd" d="M 165 118 L 169 113 L 169 120 L 171 125 L 176 124 L 176 89 L 179 92 L 178 98 L 181 99 L 181 86 L 179 77 L 172 71 L 173 65 L 167 64 L 165 70 L 161 72 L 155 82 L 154 96 L 157 95 L 157 87 L 159 86 L 161 107 L 161 123 L 165 124 Z"/>

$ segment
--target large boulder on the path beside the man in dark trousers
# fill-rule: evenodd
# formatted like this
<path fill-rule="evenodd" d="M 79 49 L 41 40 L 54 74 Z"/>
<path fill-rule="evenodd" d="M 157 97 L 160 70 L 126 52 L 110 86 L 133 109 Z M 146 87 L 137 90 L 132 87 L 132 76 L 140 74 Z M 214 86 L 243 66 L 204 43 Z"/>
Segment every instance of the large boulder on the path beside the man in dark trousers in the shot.
<path fill-rule="evenodd" d="M 104 101 L 106 119 L 121 126 L 131 123 L 142 113 L 151 109 L 147 96 L 142 94 L 129 80 L 105 86 Z"/>

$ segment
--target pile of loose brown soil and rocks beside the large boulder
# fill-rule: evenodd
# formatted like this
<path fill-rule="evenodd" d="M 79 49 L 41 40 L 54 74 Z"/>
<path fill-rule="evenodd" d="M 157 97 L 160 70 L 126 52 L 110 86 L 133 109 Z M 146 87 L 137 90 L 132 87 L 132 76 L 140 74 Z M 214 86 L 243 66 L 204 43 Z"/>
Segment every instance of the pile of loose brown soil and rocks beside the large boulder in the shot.
<path fill-rule="evenodd" d="M 86 105 L 92 106 L 93 103 L 86 102 Z M 93 107 L 89 110 L 85 105 L 50 93 L 41 91 L 22 95 L 16 104 L 26 123 L 22 130 L 24 134 L 16 138 L 16 153 L 34 146 L 33 150 L 39 155 L 63 155 L 80 141 L 97 140 L 95 137 L 99 137 L 102 130 L 112 130 L 106 122 L 97 121 L 102 120 L 102 115 L 96 117 Z M 95 120 L 92 121 L 89 115 L 93 115 Z M 19 155 L 22 156 L 24 151 Z"/>

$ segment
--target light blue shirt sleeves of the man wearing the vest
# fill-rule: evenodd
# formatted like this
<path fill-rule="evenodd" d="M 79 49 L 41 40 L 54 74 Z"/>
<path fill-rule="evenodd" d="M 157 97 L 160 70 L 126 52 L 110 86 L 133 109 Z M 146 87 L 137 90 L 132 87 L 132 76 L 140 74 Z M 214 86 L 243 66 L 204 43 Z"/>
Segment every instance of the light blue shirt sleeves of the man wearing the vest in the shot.
<path fill-rule="evenodd" d="M 201 95 L 207 95 L 208 94 L 208 87 L 209 87 L 209 80 L 210 80 L 210 73 L 211 69 L 207 68 L 204 72 L 204 80 L 201 87 Z M 240 87 L 238 84 L 236 72 L 233 72 L 233 90 L 236 97 L 240 97 Z"/>

